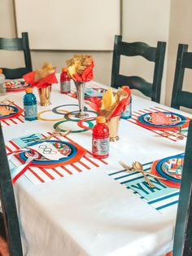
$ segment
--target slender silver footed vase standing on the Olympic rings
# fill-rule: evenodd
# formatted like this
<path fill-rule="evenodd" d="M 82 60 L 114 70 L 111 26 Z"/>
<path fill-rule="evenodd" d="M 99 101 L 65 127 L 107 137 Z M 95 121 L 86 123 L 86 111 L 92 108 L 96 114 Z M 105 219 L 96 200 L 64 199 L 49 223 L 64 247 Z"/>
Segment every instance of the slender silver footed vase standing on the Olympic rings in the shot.
<path fill-rule="evenodd" d="M 88 113 L 84 111 L 84 98 L 85 98 L 85 82 L 74 81 L 76 85 L 76 95 L 79 101 L 80 112 L 76 114 L 78 118 L 88 117 Z"/>

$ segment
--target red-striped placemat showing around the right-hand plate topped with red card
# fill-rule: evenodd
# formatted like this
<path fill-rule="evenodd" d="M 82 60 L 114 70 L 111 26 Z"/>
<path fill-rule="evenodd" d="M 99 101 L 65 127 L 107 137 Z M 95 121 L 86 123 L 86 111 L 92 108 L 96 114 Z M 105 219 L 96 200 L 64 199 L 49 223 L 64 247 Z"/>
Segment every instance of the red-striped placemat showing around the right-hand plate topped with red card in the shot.
<path fill-rule="evenodd" d="M 146 108 L 146 109 L 143 109 L 143 110 L 138 110 L 138 111 L 134 111 L 132 113 L 132 117 L 130 119 L 128 119 L 127 121 L 137 125 L 137 126 L 140 126 L 138 123 L 137 123 L 137 118 L 140 117 L 141 115 L 145 114 L 145 113 L 151 113 L 151 112 L 157 112 L 157 111 L 165 111 L 165 112 L 170 112 L 168 109 L 166 108 L 160 108 L 160 107 L 154 107 L 154 108 Z M 159 135 L 159 136 L 162 136 L 166 139 L 170 139 L 172 141 L 178 141 L 177 139 L 177 132 L 173 131 L 173 130 L 152 130 L 150 128 L 147 128 L 147 127 L 143 127 L 141 126 L 143 129 L 146 129 L 146 130 L 151 130 L 151 132 L 155 133 L 156 135 Z M 183 137 L 186 137 L 185 135 L 182 135 Z"/>

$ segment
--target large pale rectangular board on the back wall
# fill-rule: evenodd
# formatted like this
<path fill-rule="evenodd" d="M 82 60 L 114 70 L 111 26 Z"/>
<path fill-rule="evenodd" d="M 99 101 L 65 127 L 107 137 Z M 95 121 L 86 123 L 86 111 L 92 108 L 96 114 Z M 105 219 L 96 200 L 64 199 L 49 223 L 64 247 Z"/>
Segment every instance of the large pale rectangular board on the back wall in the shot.
<path fill-rule="evenodd" d="M 120 33 L 120 0 L 15 0 L 15 14 L 32 50 L 113 51 Z"/>

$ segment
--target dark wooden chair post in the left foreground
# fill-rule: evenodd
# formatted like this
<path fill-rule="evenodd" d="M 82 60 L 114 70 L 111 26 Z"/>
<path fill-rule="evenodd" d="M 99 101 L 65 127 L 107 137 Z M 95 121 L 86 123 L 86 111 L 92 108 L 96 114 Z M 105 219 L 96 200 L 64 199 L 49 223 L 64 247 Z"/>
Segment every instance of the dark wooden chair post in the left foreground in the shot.
<path fill-rule="evenodd" d="M 2 216 L 7 236 L 7 243 L 11 256 L 22 256 L 23 252 L 20 240 L 20 227 L 1 125 L 0 156 L 0 199 L 2 203 Z"/>

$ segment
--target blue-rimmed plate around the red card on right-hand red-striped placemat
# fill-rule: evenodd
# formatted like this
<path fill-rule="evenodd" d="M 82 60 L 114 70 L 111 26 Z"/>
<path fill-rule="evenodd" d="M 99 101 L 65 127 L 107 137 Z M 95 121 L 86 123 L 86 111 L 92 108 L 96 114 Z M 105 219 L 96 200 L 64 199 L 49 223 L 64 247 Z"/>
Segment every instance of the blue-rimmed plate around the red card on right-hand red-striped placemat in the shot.
<path fill-rule="evenodd" d="M 155 112 L 158 113 L 158 112 Z M 169 118 L 169 120 L 172 121 L 172 124 L 170 125 L 155 125 L 154 123 L 151 122 L 151 113 L 145 113 L 142 116 L 138 117 L 138 121 L 142 123 L 142 125 L 145 126 L 151 126 L 151 127 L 156 127 L 156 128 L 165 128 L 165 127 L 177 127 L 177 126 L 182 126 L 186 118 L 183 117 L 180 114 L 177 113 L 171 113 L 171 112 L 162 112 L 166 114 L 166 116 Z"/>

